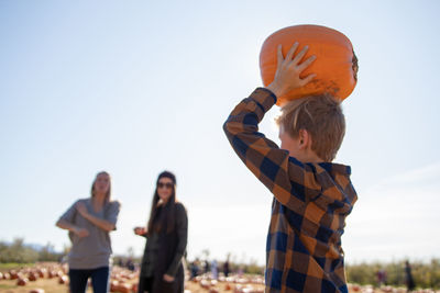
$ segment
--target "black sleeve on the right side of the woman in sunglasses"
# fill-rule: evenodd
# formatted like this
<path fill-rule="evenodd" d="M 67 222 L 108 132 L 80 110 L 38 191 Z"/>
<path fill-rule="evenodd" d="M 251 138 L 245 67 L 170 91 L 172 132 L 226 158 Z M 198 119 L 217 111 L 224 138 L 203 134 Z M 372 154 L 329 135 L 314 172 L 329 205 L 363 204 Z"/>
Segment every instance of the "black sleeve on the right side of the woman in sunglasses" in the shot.
<path fill-rule="evenodd" d="M 185 206 L 176 204 L 176 229 L 177 229 L 177 247 L 173 261 L 166 271 L 168 275 L 176 275 L 182 258 L 184 257 L 188 240 L 188 217 Z"/>

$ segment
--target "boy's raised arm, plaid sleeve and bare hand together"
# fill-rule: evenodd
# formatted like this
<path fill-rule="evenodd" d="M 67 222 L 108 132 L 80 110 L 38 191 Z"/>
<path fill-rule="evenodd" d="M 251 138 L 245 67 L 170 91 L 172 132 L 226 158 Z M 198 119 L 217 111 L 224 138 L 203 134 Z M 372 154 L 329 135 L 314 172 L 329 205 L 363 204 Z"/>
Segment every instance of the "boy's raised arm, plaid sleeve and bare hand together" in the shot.
<path fill-rule="evenodd" d="M 223 125 L 232 148 L 246 167 L 270 189 L 280 203 L 289 207 L 305 202 L 304 194 L 316 194 L 319 184 L 316 184 L 317 190 L 315 190 L 315 174 L 311 167 L 301 164 L 295 158 L 289 159 L 287 150 L 279 149 L 274 142 L 258 132 L 258 123 L 263 120 L 264 114 L 276 103 L 277 98 L 274 92 L 283 94 L 289 91 L 292 87 L 300 87 L 312 79 L 314 76 L 305 79 L 299 78 L 299 74 L 311 64 L 314 58 L 309 58 L 298 65 L 307 47 L 293 58 L 297 46 L 298 44 L 295 44 L 290 48 L 285 59 L 280 47 L 278 47 L 278 68 L 274 82 L 267 89 L 257 88 L 249 98 L 241 101 Z M 306 192 L 305 181 L 309 187 L 309 191 Z M 299 191 L 299 189 L 301 192 L 295 191 Z M 295 198 L 292 195 L 295 195 Z"/>

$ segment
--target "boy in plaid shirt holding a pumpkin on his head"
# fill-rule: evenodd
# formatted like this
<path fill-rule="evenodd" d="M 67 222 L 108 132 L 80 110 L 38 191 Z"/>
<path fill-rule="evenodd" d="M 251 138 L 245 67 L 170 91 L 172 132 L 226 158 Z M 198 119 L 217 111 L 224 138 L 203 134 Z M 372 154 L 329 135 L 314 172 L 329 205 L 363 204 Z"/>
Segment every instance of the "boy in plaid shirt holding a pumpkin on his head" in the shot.
<path fill-rule="evenodd" d="M 278 64 L 274 81 L 256 89 L 232 111 L 224 132 L 246 167 L 274 194 L 266 245 L 266 292 L 348 292 L 341 235 L 358 196 L 350 167 L 331 164 L 345 122 L 338 101 L 308 97 L 286 104 L 277 122 L 280 148 L 257 124 L 282 97 L 310 82 L 299 77 L 314 60 L 295 56 L 295 43 Z"/>

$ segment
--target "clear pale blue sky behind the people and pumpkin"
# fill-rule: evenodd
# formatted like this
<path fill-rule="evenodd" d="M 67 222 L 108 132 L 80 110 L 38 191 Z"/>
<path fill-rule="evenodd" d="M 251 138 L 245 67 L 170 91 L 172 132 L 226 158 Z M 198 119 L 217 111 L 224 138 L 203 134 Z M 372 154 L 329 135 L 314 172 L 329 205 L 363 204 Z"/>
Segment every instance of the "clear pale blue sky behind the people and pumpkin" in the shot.
<path fill-rule="evenodd" d="M 438 1 L 0 1 L 0 239 L 51 241 L 95 174 L 122 202 L 113 250 L 142 252 L 154 182 L 177 174 L 188 253 L 265 257 L 272 196 L 222 133 L 262 84 L 274 31 L 312 23 L 343 32 L 360 59 L 337 157 L 359 202 L 346 260 L 440 257 Z M 261 129 L 275 142 L 274 108 Z"/>

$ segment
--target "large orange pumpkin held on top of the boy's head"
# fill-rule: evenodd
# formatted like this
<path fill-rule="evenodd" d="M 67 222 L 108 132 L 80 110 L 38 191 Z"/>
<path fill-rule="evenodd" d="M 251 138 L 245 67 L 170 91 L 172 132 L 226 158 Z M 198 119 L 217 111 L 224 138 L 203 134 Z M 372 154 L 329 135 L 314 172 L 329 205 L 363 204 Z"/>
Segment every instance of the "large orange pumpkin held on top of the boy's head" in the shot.
<path fill-rule="evenodd" d="M 311 55 L 317 59 L 301 74 L 301 78 L 316 74 L 316 78 L 305 87 L 278 97 L 277 105 L 294 99 L 330 93 L 343 100 L 356 86 L 358 58 L 350 40 L 342 33 L 320 25 L 294 25 L 282 29 L 264 41 L 260 53 L 260 69 L 264 86 L 274 80 L 277 67 L 277 47 L 283 46 L 283 56 L 287 55 L 295 42 L 299 43 L 298 53 L 304 46 L 309 49 L 302 60 Z"/>

